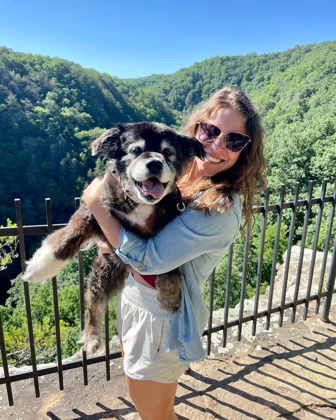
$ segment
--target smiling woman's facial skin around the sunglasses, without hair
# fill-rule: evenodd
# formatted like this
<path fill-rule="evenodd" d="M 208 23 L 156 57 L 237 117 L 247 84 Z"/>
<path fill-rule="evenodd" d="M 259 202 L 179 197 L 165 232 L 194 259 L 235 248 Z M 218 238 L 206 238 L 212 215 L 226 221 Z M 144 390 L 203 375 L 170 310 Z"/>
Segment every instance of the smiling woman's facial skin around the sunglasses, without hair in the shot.
<path fill-rule="evenodd" d="M 236 133 L 247 134 L 247 132 L 244 124 L 244 116 L 236 109 L 218 109 L 206 122 L 218 127 L 221 134 L 212 144 L 202 143 L 205 151 L 205 160 L 202 161 L 198 157 L 195 157 L 195 160 L 197 170 L 202 176 L 213 176 L 218 172 L 231 168 L 241 153 L 233 153 L 226 150 L 225 133 L 235 131 Z M 198 132 L 196 137 L 198 139 Z"/>

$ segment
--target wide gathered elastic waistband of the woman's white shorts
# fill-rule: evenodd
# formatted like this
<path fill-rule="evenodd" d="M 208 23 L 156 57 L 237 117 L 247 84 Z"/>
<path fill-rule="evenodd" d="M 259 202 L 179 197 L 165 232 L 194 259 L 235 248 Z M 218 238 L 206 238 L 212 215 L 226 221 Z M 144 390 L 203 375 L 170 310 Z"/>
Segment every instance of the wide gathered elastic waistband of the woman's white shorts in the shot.
<path fill-rule="evenodd" d="M 126 280 L 122 294 L 124 299 L 127 299 L 140 309 L 157 315 L 171 315 L 170 312 L 160 307 L 160 302 L 157 299 L 157 290 L 136 281 L 131 272 Z"/>

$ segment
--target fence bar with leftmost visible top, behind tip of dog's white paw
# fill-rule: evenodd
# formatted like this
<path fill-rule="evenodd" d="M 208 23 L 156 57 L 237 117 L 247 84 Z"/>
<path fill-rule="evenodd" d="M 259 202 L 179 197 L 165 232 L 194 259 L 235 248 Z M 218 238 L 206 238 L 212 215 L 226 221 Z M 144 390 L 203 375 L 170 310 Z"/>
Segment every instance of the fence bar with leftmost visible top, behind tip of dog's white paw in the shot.
<path fill-rule="evenodd" d="M 21 259 L 21 269 L 22 273 L 26 270 L 26 250 L 24 247 L 24 230 L 22 226 L 22 213 L 21 213 L 21 202 L 20 199 L 15 199 L 15 210 L 16 210 L 16 224 L 18 226 L 18 241 L 20 249 L 20 259 Z M 28 336 L 29 336 L 29 346 L 30 354 L 32 357 L 32 370 L 35 386 L 35 395 L 39 397 L 39 379 L 37 376 L 37 366 L 36 366 L 36 355 L 35 355 L 35 342 L 34 342 L 34 333 L 33 333 L 33 324 L 32 324 L 32 312 L 30 310 L 30 298 L 29 298 L 29 286 L 26 281 L 24 281 L 24 300 L 26 303 L 26 314 L 27 314 L 27 325 L 28 325 Z"/>

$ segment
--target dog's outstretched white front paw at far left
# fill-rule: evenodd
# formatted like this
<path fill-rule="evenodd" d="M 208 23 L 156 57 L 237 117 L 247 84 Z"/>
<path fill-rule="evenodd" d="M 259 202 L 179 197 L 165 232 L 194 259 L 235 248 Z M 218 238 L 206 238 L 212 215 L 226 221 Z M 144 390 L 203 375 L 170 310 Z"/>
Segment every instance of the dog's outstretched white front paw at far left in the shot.
<path fill-rule="evenodd" d="M 23 281 L 45 283 L 48 278 L 56 276 L 67 261 L 58 260 L 53 248 L 49 244 L 43 244 L 37 249 L 33 257 L 26 262 L 26 270 L 22 275 Z"/>

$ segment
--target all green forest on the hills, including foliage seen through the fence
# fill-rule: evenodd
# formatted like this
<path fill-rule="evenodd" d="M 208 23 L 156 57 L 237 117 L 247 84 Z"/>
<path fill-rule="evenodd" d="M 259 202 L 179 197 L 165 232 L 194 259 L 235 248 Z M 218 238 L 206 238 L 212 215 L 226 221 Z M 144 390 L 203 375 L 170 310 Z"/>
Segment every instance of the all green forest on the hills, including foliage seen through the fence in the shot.
<path fill-rule="evenodd" d="M 135 64 L 136 65 L 136 64 Z M 270 202 L 278 201 L 281 183 L 286 201 L 293 199 L 294 183 L 307 194 L 315 180 L 320 195 L 323 178 L 327 194 L 336 178 L 336 42 L 295 46 L 263 55 L 214 57 L 171 75 L 121 80 L 78 64 L 0 47 L 0 225 L 16 221 L 14 199 L 20 198 L 23 223 L 45 224 L 45 198 L 50 197 L 53 222 L 64 223 L 74 211 L 74 197 L 100 175 L 104 163 L 90 155 L 89 142 L 116 121 L 162 121 L 179 127 L 192 108 L 224 85 L 241 85 L 255 100 L 267 132 L 265 156 Z M 319 205 L 310 211 L 305 246 L 312 248 Z M 325 203 L 318 250 L 323 250 L 331 203 Z M 246 297 L 255 293 L 260 255 L 261 218 L 257 215 L 249 241 Z M 304 208 L 297 210 L 293 244 L 302 238 Z M 291 209 L 283 211 L 278 262 L 287 248 Z M 270 281 L 276 214 L 269 212 L 262 261 L 261 290 Z M 336 234 L 334 219 L 330 247 Z M 31 256 L 41 236 L 25 238 Z M 0 239 L 1 244 L 1 239 Z M 230 306 L 240 299 L 244 238 L 235 239 L 232 257 Z M 85 278 L 95 249 L 84 252 Z M 20 259 L 1 271 L 1 306 L 8 361 L 31 364 Z M 227 256 L 215 273 L 214 308 L 224 306 Z M 10 285 L 10 280 L 12 287 Z M 74 259 L 58 275 L 58 302 L 62 357 L 79 349 L 78 263 Z M 202 288 L 205 299 L 209 283 Z M 10 289 L 11 287 L 11 289 Z M 8 290 L 9 289 L 9 290 Z M 52 285 L 31 284 L 37 361 L 55 362 L 55 321 Z M 0 295 L 0 304 L 5 303 Z M 117 298 L 109 310 L 110 336 L 116 333 Z M 1 365 L 1 357 L 0 357 Z"/>

